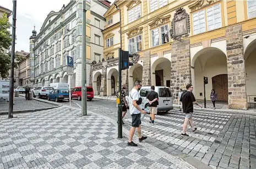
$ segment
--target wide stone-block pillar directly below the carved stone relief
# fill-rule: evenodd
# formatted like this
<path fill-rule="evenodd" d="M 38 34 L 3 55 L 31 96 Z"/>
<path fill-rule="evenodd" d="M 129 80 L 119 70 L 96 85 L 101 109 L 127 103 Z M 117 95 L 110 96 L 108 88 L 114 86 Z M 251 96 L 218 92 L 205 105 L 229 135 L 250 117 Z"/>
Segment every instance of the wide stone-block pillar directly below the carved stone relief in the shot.
<path fill-rule="evenodd" d="M 189 39 L 172 43 L 171 91 L 173 103 L 178 102 L 179 88 L 186 90 L 186 85 L 191 84 L 189 45 Z"/>

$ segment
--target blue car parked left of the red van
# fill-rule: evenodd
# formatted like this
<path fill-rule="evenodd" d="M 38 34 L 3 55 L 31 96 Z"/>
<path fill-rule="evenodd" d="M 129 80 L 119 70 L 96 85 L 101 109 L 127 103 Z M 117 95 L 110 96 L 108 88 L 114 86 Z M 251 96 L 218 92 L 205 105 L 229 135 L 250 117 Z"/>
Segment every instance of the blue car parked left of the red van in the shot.
<path fill-rule="evenodd" d="M 72 97 L 71 97 L 72 99 Z M 68 89 L 54 89 L 50 94 L 47 95 L 47 100 L 55 100 L 56 102 L 60 100 L 69 101 L 69 90 Z"/>

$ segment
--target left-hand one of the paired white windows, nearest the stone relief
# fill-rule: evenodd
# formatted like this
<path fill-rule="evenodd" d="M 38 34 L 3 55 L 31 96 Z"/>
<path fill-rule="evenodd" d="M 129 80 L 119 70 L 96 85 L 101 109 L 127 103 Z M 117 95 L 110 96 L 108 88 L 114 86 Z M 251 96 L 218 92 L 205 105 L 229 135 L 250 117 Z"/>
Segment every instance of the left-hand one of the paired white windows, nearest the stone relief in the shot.
<path fill-rule="evenodd" d="M 202 13 L 203 14 L 200 14 Z M 196 16 L 197 15 L 197 16 Z M 200 18 L 200 15 L 203 15 L 203 18 Z M 197 17 L 197 18 L 196 18 Z M 200 22 L 200 20 L 204 20 L 204 22 Z M 193 35 L 201 34 L 206 31 L 206 23 L 205 23 L 205 9 L 200 10 L 196 13 L 192 14 L 192 20 L 193 20 Z M 198 24 L 195 25 L 195 22 L 198 21 Z M 198 29 L 195 29 L 195 26 L 198 26 Z M 195 30 L 198 30 L 198 33 L 195 32 Z"/>

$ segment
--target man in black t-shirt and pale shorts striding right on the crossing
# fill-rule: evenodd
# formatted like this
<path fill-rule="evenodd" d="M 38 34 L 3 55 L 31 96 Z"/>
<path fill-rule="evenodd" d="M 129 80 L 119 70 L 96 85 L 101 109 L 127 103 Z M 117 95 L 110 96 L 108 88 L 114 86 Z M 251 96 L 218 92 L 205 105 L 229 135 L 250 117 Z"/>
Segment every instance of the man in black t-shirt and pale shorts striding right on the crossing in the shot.
<path fill-rule="evenodd" d="M 181 95 L 181 99 L 179 101 L 182 102 L 182 109 L 183 112 L 186 113 L 185 119 L 184 119 L 184 124 L 183 124 L 183 131 L 182 131 L 182 137 L 189 137 L 188 134 L 186 134 L 188 123 L 192 127 L 192 132 L 195 133 L 197 132 L 197 128 L 194 126 L 193 120 L 192 120 L 192 114 L 193 114 L 193 104 L 200 106 L 201 108 L 203 106 L 199 105 L 197 100 L 195 100 L 195 96 L 193 94 L 193 85 L 188 84 L 186 86 L 187 91 L 183 91 Z"/>

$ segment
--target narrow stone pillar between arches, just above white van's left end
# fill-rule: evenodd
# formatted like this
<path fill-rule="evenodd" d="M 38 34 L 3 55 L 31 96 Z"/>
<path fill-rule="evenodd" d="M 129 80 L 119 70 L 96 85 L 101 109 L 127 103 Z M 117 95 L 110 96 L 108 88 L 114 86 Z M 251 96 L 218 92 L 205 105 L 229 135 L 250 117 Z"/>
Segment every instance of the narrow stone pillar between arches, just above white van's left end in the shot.
<path fill-rule="evenodd" d="M 145 51 L 143 53 L 142 85 L 151 86 L 150 51 Z"/>

